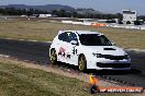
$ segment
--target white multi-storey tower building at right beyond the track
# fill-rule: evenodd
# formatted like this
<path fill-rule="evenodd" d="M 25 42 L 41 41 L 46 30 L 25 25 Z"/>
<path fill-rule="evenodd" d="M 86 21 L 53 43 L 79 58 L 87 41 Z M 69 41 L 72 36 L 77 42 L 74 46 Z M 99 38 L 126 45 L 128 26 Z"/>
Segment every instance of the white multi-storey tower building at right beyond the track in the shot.
<path fill-rule="evenodd" d="M 123 10 L 123 22 L 124 23 L 134 23 L 137 20 L 137 12 L 131 10 Z"/>

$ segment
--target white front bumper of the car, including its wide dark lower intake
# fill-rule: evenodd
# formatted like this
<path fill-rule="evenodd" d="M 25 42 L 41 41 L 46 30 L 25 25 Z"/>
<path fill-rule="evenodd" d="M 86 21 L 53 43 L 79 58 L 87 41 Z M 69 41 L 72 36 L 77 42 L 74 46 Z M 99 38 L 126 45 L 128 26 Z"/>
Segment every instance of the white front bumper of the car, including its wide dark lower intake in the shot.
<path fill-rule="evenodd" d="M 131 70 L 131 60 L 93 59 L 87 61 L 87 69 L 96 70 Z"/>

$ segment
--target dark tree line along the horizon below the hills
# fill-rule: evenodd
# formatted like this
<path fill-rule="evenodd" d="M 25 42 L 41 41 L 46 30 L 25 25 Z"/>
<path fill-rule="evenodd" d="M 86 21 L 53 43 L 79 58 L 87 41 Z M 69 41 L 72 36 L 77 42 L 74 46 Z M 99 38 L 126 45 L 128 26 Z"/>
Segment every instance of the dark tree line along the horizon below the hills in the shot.
<path fill-rule="evenodd" d="M 80 11 L 80 9 L 79 9 Z M 33 14 L 53 14 L 55 16 L 59 17 L 86 17 L 86 19 L 103 19 L 103 20 L 113 20 L 119 19 L 119 22 L 122 21 L 123 16 L 121 13 L 116 14 L 105 14 L 105 13 L 97 13 L 93 9 L 92 12 L 83 12 L 79 13 L 76 11 L 66 11 L 66 10 L 53 10 L 53 11 L 45 11 L 45 10 L 37 10 L 37 9 L 15 9 L 15 8 L 4 8 L 0 9 L 0 14 L 2 15 L 33 15 Z M 142 19 L 145 21 L 145 16 L 138 16 L 138 19 Z M 111 21 L 108 21 L 111 22 Z"/>

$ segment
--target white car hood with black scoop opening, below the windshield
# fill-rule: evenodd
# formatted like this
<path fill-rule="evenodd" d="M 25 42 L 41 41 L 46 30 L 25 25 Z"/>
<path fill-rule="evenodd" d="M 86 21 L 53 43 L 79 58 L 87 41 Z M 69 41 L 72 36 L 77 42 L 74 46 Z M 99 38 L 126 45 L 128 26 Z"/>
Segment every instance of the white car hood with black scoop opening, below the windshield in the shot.
<path fill-rule="evenodd" d="M 85 50 L 93 53 L 124 56 L 125 51 L 116 46 L 85 46 Z"/>

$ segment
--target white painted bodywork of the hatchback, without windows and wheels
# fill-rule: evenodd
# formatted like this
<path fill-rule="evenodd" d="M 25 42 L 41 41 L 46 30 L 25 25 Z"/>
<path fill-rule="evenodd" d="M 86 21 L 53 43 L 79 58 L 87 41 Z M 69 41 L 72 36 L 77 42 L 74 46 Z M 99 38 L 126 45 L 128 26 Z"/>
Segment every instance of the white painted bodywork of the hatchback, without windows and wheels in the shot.
<path fill-rule="evenodd" d="M 76 35 L 76 39 L 71 41 L 63 41 L 60 35 L 67 33 L 70 35 Z M 131 69 L 131 58 L 127 53 L 111 41 L 111 46 L 86 46 L 80 41 L 80 35 L 98 35 L 104 36 L 98 32 L 90 31 L 59 31 L 58 35 L 54 38 L 49 51 L 52 49 L 56 50 L 57 61 L 78 65 L 78 58 L 83 55 L 87 60 L 87 69 L 96 70 L 130 70 Z M 49 52 L 51 53 L 51 52 Z M 101 56 L 98 56 L 101 55 Z M 103 55 L 103 56 L 102 56 Z M 99 57 L 99 58 L 98 58 Z M 101 57 L 101 58 L 100 58 Z"/>

